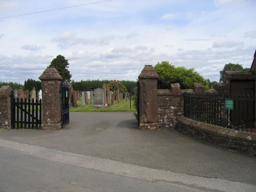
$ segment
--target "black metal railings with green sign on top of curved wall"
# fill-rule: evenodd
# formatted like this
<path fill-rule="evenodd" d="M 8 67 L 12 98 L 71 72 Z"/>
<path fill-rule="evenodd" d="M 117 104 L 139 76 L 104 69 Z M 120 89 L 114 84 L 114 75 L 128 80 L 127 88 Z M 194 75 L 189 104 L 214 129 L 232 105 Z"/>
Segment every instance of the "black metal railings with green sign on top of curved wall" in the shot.
<path fill-rule="evenodd" d="M 196 121 L 245 132 L 254 129 L 254 96 L 184 93 L 184 116 Z"/>

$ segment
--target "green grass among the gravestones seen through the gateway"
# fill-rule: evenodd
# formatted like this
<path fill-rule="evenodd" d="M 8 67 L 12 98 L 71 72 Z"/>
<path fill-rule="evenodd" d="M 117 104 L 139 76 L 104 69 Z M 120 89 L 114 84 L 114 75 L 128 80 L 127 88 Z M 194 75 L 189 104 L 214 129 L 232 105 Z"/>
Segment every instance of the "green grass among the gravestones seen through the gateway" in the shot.
<path fill-rule="evenodd" d="M 94 108 L 93 104 L 90 103 L 90 99 L 88 100 L 87 105 L 81 105 L 81 98 L 77 100 L 78 108 L 71 107 L 69 109 L 70 112 L 136 112 L 133 108 L 133 100 L 131 101 L 131 109 L 130 109 L 130 99 L 120 100 L 118 103 L 117 100 L 114 101 L 114 104 L 110 106 L 105 106 L 104 108 Z"/>

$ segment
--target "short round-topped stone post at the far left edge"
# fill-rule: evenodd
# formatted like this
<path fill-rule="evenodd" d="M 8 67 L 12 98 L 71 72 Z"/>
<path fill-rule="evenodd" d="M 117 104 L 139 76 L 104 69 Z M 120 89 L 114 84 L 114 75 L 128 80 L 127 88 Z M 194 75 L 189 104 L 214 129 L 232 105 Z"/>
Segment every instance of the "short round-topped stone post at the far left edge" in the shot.
<path fill-rule="evenodd" d="M 10 86 L 0 88 L 0 128 L 11 128 L 11 91 Z"/>

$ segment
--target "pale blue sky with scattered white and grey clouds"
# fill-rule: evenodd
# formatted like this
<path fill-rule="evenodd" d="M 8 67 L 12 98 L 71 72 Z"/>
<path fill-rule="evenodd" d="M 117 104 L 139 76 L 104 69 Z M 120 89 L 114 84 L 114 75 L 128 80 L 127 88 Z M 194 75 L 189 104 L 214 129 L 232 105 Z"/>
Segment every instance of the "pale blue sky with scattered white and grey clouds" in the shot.
<path fill-rule="evenodd" d="M 57 55 L 71 79 L 136 80 L 169 61 L 219 82 L 226 63 L 250 68 L 255 0 L 0 0 L 0 81 L 24 84 Z M 19 16 L 17 16 L 19 15 Z"/>

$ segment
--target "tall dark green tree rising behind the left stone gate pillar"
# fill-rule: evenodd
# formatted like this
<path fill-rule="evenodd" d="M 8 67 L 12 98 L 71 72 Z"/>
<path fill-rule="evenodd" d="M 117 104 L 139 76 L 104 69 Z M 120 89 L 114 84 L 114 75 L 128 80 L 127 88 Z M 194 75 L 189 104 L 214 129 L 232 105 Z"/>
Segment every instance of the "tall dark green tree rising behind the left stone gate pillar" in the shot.
<path fill-rule="evenodd" d="M 68 59 L 65 59 L 65 57 L 62 55 L 58 55 L 56 58 L 54 58 L 51 64 L 49 65 L 49 67 L 55 67 L 56 70 L 61 75 L 61 77 L 70 82 L 72 75 L 68 70 L 69 68 L 68 66 L 69 66 Z"/>

